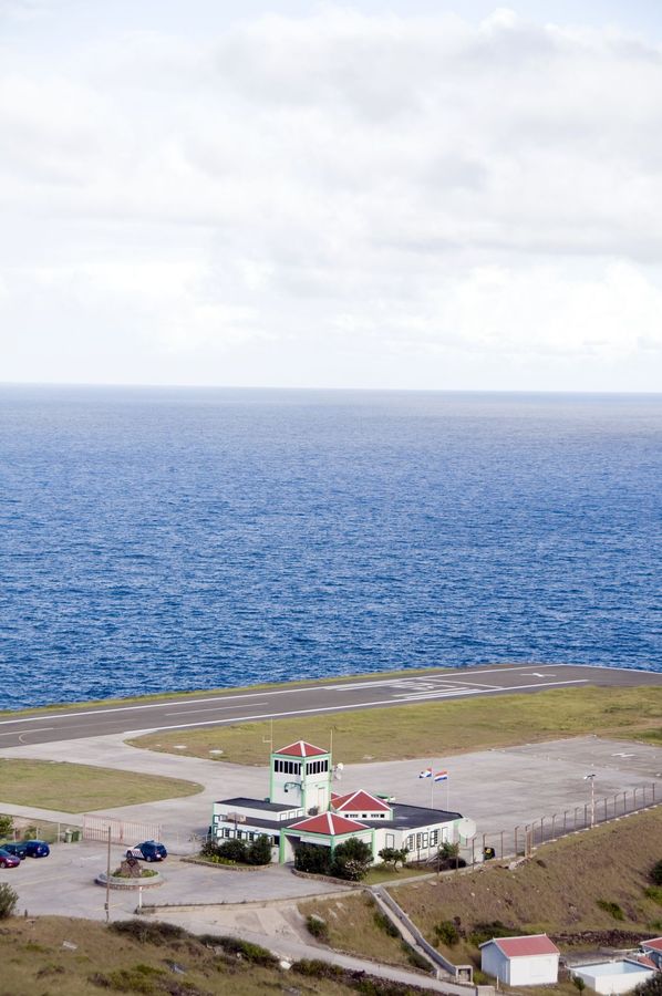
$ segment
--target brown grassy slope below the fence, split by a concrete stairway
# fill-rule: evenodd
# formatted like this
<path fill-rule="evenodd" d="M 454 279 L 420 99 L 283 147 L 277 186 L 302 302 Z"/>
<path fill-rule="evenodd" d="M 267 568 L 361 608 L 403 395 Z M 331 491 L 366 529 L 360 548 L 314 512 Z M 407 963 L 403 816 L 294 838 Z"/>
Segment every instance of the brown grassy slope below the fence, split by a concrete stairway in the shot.
<path fill-rule="evenodd" d="M 436 924 L 459 923 L 464 936 L 456 945 L 438 945 L 439 951 L 455 964 L 473 963 L 477 967 L 478 938 L 470 940 L 470 935 L 495 921 L 518 933 L 544 931 L 555 935 L 619 928 L 651 937 L 661 935 L 662 891 L 651 890 L 648 878 L 660 858 L 662 808 L 547 844 L 513 871 L 499 862 L 438 880 L 403 880 L 402 885 L 390 888 L 431 943 L 436 941 Z M 600 903 L 616 903 L 622 920 Z M 403 963 L 399 943 L 375 923 L 366 896 L 316 900 L 301 903 L 299 909 L 328 923 L 333 947 L 374 955 L 381 946 L 384 961 Z M 563 950 L 562 943 L 560 946 Z"/>

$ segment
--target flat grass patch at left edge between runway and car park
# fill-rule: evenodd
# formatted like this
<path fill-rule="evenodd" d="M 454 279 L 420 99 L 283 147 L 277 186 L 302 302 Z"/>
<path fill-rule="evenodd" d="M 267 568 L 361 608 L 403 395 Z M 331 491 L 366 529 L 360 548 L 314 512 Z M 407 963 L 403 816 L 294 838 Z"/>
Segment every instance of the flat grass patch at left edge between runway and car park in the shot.
<path fill-rule="evenodd" d="M 201 790 L 203 786 L 195 781 L 178 778 L 64 761 L 0 759 L 0 810 L 3 802 L 9 802 L 35 809 L 86 812 L 193 796 Z"/>

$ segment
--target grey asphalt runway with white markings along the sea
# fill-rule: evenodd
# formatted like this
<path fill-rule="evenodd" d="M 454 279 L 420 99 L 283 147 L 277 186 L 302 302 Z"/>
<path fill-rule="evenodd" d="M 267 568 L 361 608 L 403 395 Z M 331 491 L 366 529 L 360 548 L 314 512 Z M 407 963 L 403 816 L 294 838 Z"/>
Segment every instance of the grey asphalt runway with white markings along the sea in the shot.
<path fill-rule="evenodd" d="M 287 685 L 134 703 L 132 705 L 62 708 L 0 719 L 0 748 L 48 744 L 113 733 L 229 726 L 258 719 L 308 716 L 351 709 L 411 705 L 472 696 L 534 694 L 582 685 L 662 687 L 662 674 L 573 664 L 519 664 L 413 674 L 375 675 L 354 681 L 330 679 L 316 685 Z"/>

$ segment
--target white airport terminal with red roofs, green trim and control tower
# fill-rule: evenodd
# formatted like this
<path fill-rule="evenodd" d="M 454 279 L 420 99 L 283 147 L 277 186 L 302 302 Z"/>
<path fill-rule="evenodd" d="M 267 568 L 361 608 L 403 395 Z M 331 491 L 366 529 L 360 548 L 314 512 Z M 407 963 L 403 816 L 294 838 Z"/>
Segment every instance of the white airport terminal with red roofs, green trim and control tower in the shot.
<path fill-rule="evenodd" d="M 280 747 L 271 754 L 269 796 L 215 802 L 211 834 L 219 841 L 248 842 L 266 834 L 280 862 L 291 861 L 300 844 L 334 850 L 351 837 L 370 845 L 375 862 L 384 848 L 406 848 L 410 860 L 421 861 L 457 839 L 458 812 L 408 806 L 365 790 L 333 793 L 332 779 L 329 750 L 306 740 Z"/>

